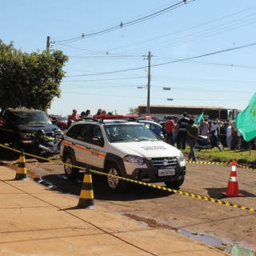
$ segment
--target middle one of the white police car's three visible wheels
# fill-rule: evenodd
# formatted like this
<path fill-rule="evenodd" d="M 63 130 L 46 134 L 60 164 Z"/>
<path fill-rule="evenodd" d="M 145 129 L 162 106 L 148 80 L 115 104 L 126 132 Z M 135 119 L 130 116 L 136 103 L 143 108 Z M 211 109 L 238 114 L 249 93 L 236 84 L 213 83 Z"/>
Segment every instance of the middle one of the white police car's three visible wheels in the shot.
<path fill-rule="evenodd" d="M 115 163 L 111 163 L 106 166 L 106 186 L 107 188 L 114 193 L 122 193 L 126 190 L 127 182 L 123 179 L 120 179 L 116 176 L 121 176 L 121 172 L 118 166 Z M 114 175 L 115 177 L 111 176 Z"/>

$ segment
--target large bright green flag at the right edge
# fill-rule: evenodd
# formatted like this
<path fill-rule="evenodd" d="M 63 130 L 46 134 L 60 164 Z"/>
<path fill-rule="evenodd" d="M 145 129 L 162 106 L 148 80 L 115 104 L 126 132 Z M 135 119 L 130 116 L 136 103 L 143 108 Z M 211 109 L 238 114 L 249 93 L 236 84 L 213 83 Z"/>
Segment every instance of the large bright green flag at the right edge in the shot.
<path fill-rule="evenodd" d="M 256 93 L 250 99 L 249 105 L 234 119 L 234 125 L 241 132 L 246 142 L 256 138 Z"/>

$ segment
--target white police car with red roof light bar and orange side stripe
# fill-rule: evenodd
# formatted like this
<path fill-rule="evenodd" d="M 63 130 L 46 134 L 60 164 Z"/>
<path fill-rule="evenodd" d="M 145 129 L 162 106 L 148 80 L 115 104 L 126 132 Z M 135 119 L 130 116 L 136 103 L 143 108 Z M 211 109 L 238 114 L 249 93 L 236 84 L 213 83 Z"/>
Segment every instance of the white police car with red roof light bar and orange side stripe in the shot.
<path fill-rule="evenodd" d="M 63 137 L 60 156 L 70 179 L 89 165 L 92 170 L 108 174 L 103 177 L 114 192 L 126 189 L 127 181 L 122 178 L 164 182 L 174 189 L 185 180 L 186 161 L 182 152 L 163 142 L 142 123 L 91 118 L 74 122 Z"/>

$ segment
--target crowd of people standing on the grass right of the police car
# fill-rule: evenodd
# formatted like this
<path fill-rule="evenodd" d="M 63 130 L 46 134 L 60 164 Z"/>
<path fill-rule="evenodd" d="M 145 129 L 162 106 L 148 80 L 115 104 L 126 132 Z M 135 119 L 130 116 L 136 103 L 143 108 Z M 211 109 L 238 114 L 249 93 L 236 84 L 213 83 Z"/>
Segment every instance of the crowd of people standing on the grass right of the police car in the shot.
<path fill-rule="evenodd" d="M 202 118 L 202 121 L 196 124 L 194 118 L 191 118 L 186 112 L 182 118 L 173 119 L 168 117 L 163 123 L 163 133 L 165 140 L 170 145 L 177 145 L 178 150 L 185 150 L 186 144 L 190 146 L 189 159 L 196 161 L 194 154 L 194 145 L 198 136 L 205 136 L 210 141 L 211 134 L 215 134 L 222 145 L 230 150 L 255 150 L 255 140 L 246 142 L 242 134 L 236 129 L 233 122 L 222 122 L 218 119 L 209 122 L 208 118 Z"/>

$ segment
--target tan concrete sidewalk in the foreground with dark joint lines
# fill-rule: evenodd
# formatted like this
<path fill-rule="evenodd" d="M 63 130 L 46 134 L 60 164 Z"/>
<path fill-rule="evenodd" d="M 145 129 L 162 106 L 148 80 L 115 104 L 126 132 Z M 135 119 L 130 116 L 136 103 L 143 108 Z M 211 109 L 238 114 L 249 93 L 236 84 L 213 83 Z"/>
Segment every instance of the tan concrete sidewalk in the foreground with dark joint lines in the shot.
<path fill-rule="evenodd" d="M 229 255 L 172 230 L 152 229 L 109 210 L 78 209 L 78 198 L 0 166 L 1 255 Z"/>

